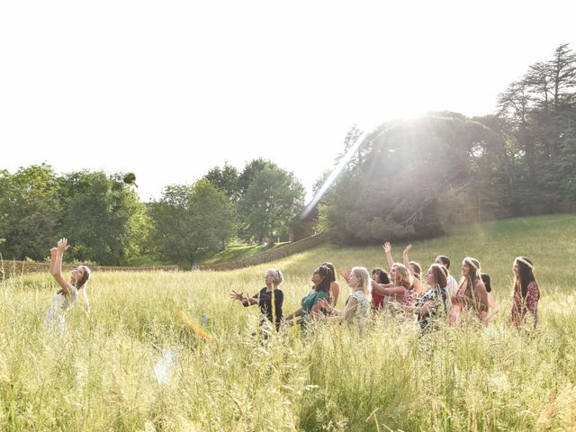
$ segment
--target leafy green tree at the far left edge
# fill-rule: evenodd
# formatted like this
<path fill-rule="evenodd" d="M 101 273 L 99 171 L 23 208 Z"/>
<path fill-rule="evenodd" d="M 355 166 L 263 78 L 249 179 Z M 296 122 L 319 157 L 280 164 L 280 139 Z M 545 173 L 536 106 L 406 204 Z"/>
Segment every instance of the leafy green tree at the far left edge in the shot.
<path fill-rule="evenodd" d="M 47 165 L 0 171 L 0 245 L 4 258 L 49 257 L 58 232 L 58 180 Z"/>

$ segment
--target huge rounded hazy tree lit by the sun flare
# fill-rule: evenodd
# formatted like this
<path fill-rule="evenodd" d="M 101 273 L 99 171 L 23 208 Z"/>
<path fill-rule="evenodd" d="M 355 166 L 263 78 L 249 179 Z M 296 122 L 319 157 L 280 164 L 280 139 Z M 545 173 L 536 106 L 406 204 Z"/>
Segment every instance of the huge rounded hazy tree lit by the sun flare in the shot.
<path fill-rule="evenodd" d="M 493 135 L 454 112 L 383 123 L 325 196 L 324 229 L 339 243 L 445 234 L 464 211 L 478 213 Z"/>

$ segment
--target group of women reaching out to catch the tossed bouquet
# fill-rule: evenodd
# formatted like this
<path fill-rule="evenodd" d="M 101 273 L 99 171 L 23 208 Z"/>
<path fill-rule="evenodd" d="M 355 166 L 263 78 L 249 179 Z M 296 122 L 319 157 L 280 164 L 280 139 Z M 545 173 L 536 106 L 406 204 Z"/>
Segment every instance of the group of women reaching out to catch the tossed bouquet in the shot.
<path fill-rule="evenodd" d="M 488 325 L 500 311 L 491 296 L 490 276 L 482 274 L 476 258 L 464 257 L 458 283 L 450 274 L 450 259 L 445 256 L 436 257 L 422 277 L 419 263 L 409 259 L 410 248 L 411 245 L 404 249 L 403 263 L 399 263 L 392 259 L 391 244 L 384 243 L 389 272 L 378 267 L 370 275 L 366 266 L 340 270 L 350 289 L 344 310 L 337 308 L 339 284 L 334 266 L 329 262 L 312 272 L 310 293 L 302 298 L 300 308 L 286 316 L 283 314 L 284 293 L 280 289 L 284 276 L 276 269 L 266 272 L 266 287 L 259 293 L 249 297 L 232 291 L 230 298 L 244 306 L 258 304 L 263 317 L 261 323 L 275 322 L 277 330 L 283 323 L 299 323 L 306 328 L 307 323 L 317 319 L 344 320 L 362 327 L 369 311 L 384 309 L 415 316 L 423 330 L 437 327 L 442 320 L 456 325 L 468 317 Z M 527 257 L 514 259 L 511 322 L 515 327 L 526 320 L 536 326 L 540 293 L 534 270 Z"/>

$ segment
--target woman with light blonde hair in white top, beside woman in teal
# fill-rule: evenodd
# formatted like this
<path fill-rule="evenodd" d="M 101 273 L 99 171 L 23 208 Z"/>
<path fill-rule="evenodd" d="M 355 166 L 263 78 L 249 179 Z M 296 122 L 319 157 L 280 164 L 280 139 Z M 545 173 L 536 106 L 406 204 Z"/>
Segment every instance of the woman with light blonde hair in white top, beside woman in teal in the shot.
<path fill-rule="evenodd" d="M 343 275 L 347 280 L 351 292 L 346 302 L 345 310 L 338 311 L 325 299 L 318 301 L 320 308 L 328 310 L 332 315 L 332 319 L 347 320 L 349 323 L 358 321 L 362 325 L 370 308 L 370 297 L 368 296 L 368 287 L 371 281 L 370 274 L 365 267 L 354 267 L 349 272 L 346 269 L 341 270 L 340 275 Z"/>

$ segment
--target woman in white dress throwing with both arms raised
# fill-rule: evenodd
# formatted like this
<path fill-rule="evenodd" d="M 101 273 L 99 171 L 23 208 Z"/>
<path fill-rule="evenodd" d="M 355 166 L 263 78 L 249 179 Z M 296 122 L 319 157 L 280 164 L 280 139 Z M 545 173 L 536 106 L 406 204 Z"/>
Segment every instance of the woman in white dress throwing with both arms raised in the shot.
<path fill-rule="evenodd" d="M 54 277 L 60 289 L 58 293 L 52 296 L 52 304 L 46 312 L 44 322 L 54 329 L 60 331 L 66 330 L 66 321 L 64 320 L 64 311 L 72 308 L 78 298 L 78 291 L 85 286 L 90 277 L 90 269 L 86 266 L 77 266 L 70 273 L 70 282 L 62 275 L 62 257 L 64 252 L 67 251 L 68 245 L 67 238 L 60 238 L 58 240 L 58 247 L 50 249 L 50 275 Z M 84 290 L 84 298 L 88 308 L 90 303 Z"/>

